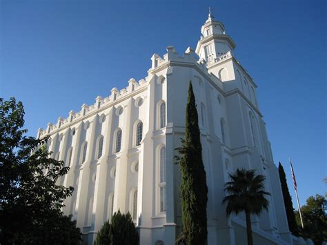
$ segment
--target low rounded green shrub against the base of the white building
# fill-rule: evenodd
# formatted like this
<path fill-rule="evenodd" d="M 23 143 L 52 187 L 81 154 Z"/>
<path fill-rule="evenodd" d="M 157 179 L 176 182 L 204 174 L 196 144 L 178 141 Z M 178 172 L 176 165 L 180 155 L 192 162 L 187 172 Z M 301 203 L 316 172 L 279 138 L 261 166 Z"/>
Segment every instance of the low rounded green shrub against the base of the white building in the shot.
<path fill-rule="evenodd" d="M 111 224 L 105 222 L 97 234 L 95 245 L 137 245 L 139 234 L 130 213 L 112 215 Z"/>

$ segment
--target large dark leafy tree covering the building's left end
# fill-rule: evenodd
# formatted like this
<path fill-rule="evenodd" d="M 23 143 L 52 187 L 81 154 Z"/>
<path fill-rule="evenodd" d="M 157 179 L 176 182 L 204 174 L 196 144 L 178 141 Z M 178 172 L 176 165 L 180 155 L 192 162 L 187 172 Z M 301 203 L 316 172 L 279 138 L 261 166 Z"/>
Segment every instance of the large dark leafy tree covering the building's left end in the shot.
<path fill-rule="evenodd" d="M 56 185 L 69 168 L 50 158 L 48 137 L 25 136 L 23 115 L 21 102 L 0 98 L 0 243 L 78 244 L 79 228 L 61 212 L 74 189 Z"/>

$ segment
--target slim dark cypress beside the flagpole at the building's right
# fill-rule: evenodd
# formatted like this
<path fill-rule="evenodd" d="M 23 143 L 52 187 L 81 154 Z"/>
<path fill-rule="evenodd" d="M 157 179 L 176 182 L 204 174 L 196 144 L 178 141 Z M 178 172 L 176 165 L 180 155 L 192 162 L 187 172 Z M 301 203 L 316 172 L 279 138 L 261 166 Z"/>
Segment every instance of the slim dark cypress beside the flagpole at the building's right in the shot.
<path fill-rule="evenodd" d="M 297 222 L 295 220 L 295 215 L 294 215 L 294 210 L 293 210 L 293 202 L 292 202 L 292 198 L 290 197 L 290 192 L 288 191 L 284 168 L 280 162 L 278 165 L 278 173 L 279 173 L 279 179 L 281 182 L 281 190 L 283 192 L 283 197 L 284 197 L 284 205 L 285 205 L 285 210 L 286 210 L 288 228 L 294 235 L 298 235 L 299 230 L 297 228 Z"/>

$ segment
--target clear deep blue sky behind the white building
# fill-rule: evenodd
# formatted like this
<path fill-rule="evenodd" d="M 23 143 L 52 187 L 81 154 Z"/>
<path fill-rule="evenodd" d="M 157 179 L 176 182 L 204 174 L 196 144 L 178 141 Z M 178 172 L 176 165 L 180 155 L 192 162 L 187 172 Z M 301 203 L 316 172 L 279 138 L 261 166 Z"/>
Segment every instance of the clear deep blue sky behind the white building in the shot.
<path fill-rule="evenodd" d="M 275 164 L 301 204 L 326 192 L 326 1 L 0 1 L 0 97 L 36 136 L 48 121 L 146 77 L 154 52 L 195 48 L 211 6 L 258 85 Z"/>

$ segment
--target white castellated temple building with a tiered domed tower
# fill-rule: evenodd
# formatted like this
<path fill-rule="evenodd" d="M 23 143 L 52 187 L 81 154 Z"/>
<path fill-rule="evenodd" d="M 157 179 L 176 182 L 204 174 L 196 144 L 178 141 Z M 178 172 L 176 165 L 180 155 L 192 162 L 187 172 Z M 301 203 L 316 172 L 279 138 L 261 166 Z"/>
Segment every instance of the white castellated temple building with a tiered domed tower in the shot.
<path fill-rule="evenodd" d="M 253 79 L 233 55 L 235 43 L 213 19 L 201 28 L 196 51 L 170 46 L 153 55 L 148 77 L 113 88 L 95 104 L 39 129 L 51 136 L 54 157 L 74 186 L 64 213 L 77 219 L 83 243 L 92 244 L 112 212 L 132 214 L 140 244 L 174 244 L 181 228 L 181 174 L 173 156 L 184 135 L 188 82 L 192 81 L 208 185 L 208 244 L 244 244 L 245 215 L 226 218 L 221 200 L 228 173 L 255 168 L 266 176 L 269 211 L 252 217 L 255 244 L 293 244 L 279 175 Z"/>

